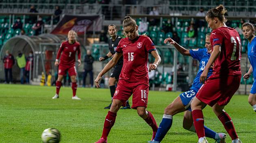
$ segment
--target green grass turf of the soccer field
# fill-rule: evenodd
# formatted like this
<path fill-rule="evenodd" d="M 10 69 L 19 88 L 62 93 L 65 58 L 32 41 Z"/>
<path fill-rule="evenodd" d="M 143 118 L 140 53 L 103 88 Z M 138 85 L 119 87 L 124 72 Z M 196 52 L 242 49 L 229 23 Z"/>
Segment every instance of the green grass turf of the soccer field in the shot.
<path fill-rule="evenodd" d="M 94 143 L 102 134 L 103 109 L 110 103 L 108 89 L 78 88 L 82 100 L 72 100 L 72 89 L 62 87 L 59 99 L 52 99 L 55 87 L 0 84 L 0 143 L 40 143 L 46 128 L 57 128 L 62 143 Z M 165 107 L 180 93 L 150 91 L 148 110 L 159 125 Z M 231 116 L 243 143 L 256 142 L 256 113 L 248 96 L 235 95 L 225 110 Z M 131 98 L 130 98 L 131 102 Z M 205 125 L 224 132 L 210 107 L 204 111 Z M 162 143 L 197 143 L 197 135 L 182 128 L 183 113 L 174 116 L 171 129 Z M 108 143 L 147 143 L 152 129 L 134 109 L 119 110 Z M 214 143 L 213 139 L 208 139 Z M 231 143 L 228 136 L 227 143 Z"/>

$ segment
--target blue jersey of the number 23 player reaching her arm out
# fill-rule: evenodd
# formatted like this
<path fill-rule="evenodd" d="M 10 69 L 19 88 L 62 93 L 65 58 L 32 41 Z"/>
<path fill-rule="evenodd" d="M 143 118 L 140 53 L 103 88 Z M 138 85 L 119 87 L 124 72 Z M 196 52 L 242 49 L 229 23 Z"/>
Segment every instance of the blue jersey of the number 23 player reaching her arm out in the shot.
<path fill-rule="evenodd" d="M 199 70 L 197 72 L 197 75 L 194 78 L 192 87 L 190 89 L 193 89 L 195 92 L 197 92 L 202 84 L 200 84 L 200 76 L 204 70 L 204 67 L 208 63 L 208 60 L 210 58 L 210 54 L 207 52 L 207 48 L 201 48 L 201 49 L 192 49 L 189 50 L 190 55 L 193 57 L 193 59 L 197 59 L 200 61 Z M 209 69 L 208 76 L 212 75 L 213 69 Z"/>

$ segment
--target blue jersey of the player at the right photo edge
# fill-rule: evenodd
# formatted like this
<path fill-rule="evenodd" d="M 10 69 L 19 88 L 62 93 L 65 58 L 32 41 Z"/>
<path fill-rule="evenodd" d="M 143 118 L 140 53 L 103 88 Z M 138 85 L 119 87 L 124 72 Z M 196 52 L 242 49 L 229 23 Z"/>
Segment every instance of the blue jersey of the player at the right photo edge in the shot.
<path fill-rule="evenodd" d="M 252 65 L 253 77 L 256 79 L 256 37 L 248 43 L 248 59 Z"/>

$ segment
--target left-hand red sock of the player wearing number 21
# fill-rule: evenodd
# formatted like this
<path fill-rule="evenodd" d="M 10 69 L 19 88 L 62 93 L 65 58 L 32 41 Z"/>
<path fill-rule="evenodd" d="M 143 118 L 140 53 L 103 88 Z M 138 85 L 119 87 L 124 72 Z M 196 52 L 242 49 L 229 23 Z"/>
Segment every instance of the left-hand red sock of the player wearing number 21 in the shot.
<path fill-rule="evenodd" d="M 202 110 L 193 110 L 192 116 L 193 116 L 193 121 L 194 121 L 195 130 L 196 130 L 198 139 L 200 139 L 200 137 L 205 137 L 204 115 L 203 115 Z"/>

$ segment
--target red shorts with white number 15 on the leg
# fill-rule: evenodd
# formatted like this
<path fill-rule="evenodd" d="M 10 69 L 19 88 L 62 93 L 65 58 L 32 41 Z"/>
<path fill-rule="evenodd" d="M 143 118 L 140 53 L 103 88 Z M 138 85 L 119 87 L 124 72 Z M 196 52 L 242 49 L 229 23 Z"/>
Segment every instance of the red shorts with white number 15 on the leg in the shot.
<path fill-rule="evenodd" d="M 147 107 L 148 105 L 148 80 L 139 82 L 126 82 L 119 80 L 113 99 L 122 101 L 126 106 L 126 101 L 132 95 L 132 109 L 139 106 Z"/>

